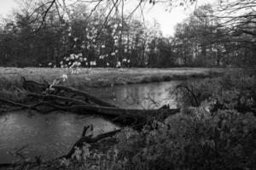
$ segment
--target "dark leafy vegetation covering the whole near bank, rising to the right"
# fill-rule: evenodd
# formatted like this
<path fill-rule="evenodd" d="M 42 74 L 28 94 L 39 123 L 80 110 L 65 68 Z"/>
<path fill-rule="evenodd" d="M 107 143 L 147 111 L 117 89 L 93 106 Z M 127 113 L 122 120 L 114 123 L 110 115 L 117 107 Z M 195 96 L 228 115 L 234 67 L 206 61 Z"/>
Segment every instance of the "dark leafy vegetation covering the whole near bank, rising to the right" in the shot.
<path fill-rule="evenodd" d="M 175 115 L 155 116 L 143 128 L 125 127 L 96 143 L 84 140 L 70 157 L 9 168 L 255 169 L 255 83 L 252 72 L 228 71 L 179 85 L 175 92 L 182 91 L 187 105 Z"/>

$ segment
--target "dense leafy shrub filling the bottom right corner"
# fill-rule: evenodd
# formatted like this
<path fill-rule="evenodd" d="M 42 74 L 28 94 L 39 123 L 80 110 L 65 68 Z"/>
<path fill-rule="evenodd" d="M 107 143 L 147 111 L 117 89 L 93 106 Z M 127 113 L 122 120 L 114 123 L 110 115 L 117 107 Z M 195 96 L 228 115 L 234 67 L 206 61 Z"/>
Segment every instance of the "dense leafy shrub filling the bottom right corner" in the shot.
<path fill-rule="evenodd" d="M 154 125 L 154 130 L 145 128 L 138 133 L 127 129 L 119 135 L 117 148 L 123 168 L 255 168 L 256 118 L 251 113 L 211 114 L 198 108 Z"/>

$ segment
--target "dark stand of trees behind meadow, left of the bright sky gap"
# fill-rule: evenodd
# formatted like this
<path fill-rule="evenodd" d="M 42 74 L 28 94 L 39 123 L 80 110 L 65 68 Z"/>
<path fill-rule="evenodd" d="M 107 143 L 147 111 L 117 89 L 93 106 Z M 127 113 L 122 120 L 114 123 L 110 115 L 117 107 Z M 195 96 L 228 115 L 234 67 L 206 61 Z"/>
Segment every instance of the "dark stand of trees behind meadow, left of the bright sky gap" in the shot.
<path fill-rule="evenodd" d="M 104 8 L 89 14 L 89 8 L 83 3 L 68 9 L 73 12 L 61 20 L 57 11 L 51 11 L 37 31 L 30 20 L 37 20 L 40 11 L 29 15 L 30 11 L 25 8 L 14 14 L 15 19 L 6 19 L 0 29 L 0 65 L 131 67 L 159 66 L 165 58 L 172 60 L 168 54 L 170 44 L 160 44 L 157 23 L 146 27 L 140 20 L 119 15 L 109 16 L 106 23 Z M 149 45 L 152 43 L 153 51 Z M 76 56 L 79 57 L 74 59 Z M 158 65 L 148 62 L 151 58 L 157 59 Z M 166 64 L 170 65 L 172 63 Z"/>

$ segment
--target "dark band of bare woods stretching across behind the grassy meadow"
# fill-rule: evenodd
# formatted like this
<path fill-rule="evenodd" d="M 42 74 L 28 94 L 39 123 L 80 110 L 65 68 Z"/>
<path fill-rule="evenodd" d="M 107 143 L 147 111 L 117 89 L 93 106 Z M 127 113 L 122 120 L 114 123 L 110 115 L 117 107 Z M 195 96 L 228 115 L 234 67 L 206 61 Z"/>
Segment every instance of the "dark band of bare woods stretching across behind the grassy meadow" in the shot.
<path fill-rule="evenodd" d="M 94 1 L 90 5 L 94 8 L 81 2 L 23 1 L 19 12 L 0 23 L 0 65 L 69 67 L 74 61 L 84 67 L 256 64 L 253 0 L 197 7 L 177 24 L 173 37 L 163 37 L 157 21 L 147 24 L 137 17 L 143 18 L 143 3 L 155 5 L 156 1 L 138 1 L 137 14 L 125 14 L 121 0 Z"/>

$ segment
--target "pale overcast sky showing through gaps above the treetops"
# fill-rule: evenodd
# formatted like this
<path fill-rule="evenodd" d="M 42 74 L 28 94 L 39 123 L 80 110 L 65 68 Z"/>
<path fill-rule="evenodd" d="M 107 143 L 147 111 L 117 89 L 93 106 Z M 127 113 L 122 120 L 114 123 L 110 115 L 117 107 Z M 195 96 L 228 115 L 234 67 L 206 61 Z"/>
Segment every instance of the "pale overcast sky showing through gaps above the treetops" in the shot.
<path fill-rule="evenodd" d="M 134 5 L 136 5 L 138 1 L 129 0 L 129 2 L 133 2 Z M 197 5 L 201 5 L 206 2 L 212 1 L 198 0 Z M 17 3 L 15 3 L 15 0 L 0 0 L 0 14 L 10 14 L 13 8 L 17 8 Z M 177 25 L 177 23 L 181 22 L 187 16 L 189 16 L 189 14 L 195 9 L 195 6 L 189 6 L 189 8 L 187 8 L 186 10 L 181 7 L 172 8 L 171 12 L 166 11 L 165 9 L 166 7 L 163 4 L 154 5 L 153 8 L 151 7 L 151 5 L 147 5 L 143 10 L 144 18 L 145 20 L 150 21 L 157 20 L 160 23 L 160 29 L 163 32 L 164 36 L 169 36 L 173 35 L 174 27 Z"/>

